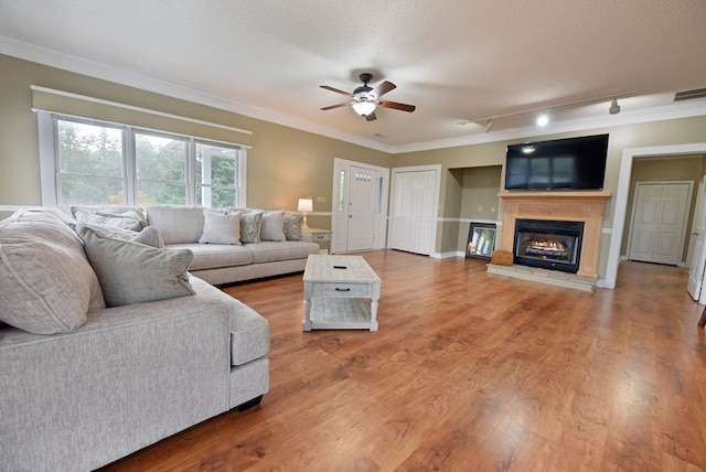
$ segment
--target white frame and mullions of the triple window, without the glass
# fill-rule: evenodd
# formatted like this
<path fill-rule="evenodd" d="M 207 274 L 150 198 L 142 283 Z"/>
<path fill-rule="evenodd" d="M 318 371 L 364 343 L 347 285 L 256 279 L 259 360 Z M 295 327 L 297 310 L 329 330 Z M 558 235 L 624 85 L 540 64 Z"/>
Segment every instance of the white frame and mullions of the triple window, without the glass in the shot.
<path fill-rule="evenodd" d="M 197 205 L 199 186 L 202 182 L 195 181 L 195 160 L 196 143 L 205 143 L 222 148 L 234 149 L 237 151 L 235 158 L 235 178 L 234 190 L 236 205 L 246 207 L 247 201 L 247 147 L 233 142 L 223 142 L 213 139 L 181 135 L 163 130 L 153 130 L 142 127 L 133 127 L 125 124 L 116 124 L 105 120 L 96 120 L 85 117 L 77 117 L 66 114 L 57 114 L 51 111 L 38 110 L 38 131 L 39 131 L 39 151 L 40 151 L 40 182 L 42 193 L 42 205 L 58 206 L 61 202 L 61 180 L 64 175 L 61 171 L 61 162 L 58 155 L 58 132 L 57 120 L 64 119 L 68 121 L 88 124 L 96 126 L 105 126 L 118 128 L 122 130 L 122 174 L 125 179 L 125 202 L 126 206 L 139 206 L 137 202 L 137 161 L 136 161 L 136 140 L 135 133 L 146 133 L 151 136 L 174 137 L 186 141 L 186 202 L 185 205 Z M 211 202 L 202 202 L 200 206 L 211 206 Z"/>

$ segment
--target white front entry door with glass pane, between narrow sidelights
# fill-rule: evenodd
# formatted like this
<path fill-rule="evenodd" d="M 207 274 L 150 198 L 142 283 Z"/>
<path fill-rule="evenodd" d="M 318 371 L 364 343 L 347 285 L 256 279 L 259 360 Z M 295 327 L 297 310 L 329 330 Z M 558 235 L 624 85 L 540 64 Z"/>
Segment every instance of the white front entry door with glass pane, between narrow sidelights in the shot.
<path fill-rule="evenodd" d="M 373 248 L 376 182 L 377 173 L 374 170 L 351 167 L 346 250 Z"/>

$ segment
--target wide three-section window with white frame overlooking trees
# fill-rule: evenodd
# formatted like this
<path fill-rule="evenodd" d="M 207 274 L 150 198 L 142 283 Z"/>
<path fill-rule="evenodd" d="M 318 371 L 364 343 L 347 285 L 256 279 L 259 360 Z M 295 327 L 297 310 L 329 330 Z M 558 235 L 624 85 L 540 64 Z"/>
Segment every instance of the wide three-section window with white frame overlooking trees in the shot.
<path fill-rule="evenodd" d="M 45 205 L 245 206 L 236 144 L 49 112 L 40 140 Z"/>

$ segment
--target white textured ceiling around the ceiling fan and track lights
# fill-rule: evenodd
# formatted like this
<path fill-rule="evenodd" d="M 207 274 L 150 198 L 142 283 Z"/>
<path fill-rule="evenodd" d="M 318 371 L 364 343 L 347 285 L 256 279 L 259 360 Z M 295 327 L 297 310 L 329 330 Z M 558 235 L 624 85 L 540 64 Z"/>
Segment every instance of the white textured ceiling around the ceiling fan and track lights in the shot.
<path fill-rule="evenodd" d="M 706 114 L 673 101 L 706 87 L 704 0 L 0 0 L 0 53 L 391 150 L 527 135 L 534 112 L 482 119 L 598 97 L 543 132 Z M 320 85 L 352 92 L 361 72 L 416 111 L 320 110 L 345 101 Z"/>

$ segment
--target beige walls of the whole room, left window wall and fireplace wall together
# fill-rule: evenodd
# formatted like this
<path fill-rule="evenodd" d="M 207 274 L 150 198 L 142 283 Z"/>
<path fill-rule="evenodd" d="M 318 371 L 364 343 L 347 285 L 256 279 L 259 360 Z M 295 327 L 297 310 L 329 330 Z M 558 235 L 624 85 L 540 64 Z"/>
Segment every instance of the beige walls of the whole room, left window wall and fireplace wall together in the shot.
<path fill-rule="evenodd" d="M 609 132 L 606 190 L 614 194 L 623 149 L 706 141 L 705 116 L 616 127 L 608 127 L 611 117 L 607 116 L 606 128 L 588 131 L 388 154 L 4 55 L 0 55 L 0 205 L 41 203 L 36 116 L 30 110 L 30 86 L 40 85 L 253 131 L 253 149 L 248 151 L 249 206 L 293 210 L 297 199 L 313 196 L 314 212 L 330 212 L 334 158 L 384 168 L 441 164 L 441 221 L 438 224 L 437 253 L 464 250 L 468 225 L 459 224 L 468 212 L 462 202 L 464 193 L 470 191 L 463 183 L 468 175 L 464 169 L 502 167 L 507 144 Z M 325 203 L 318 203 L 317 196 L 324 197 Z M 611 199 L 607 205 L 603 228 L 612 227 L 613 207 L 614 199 Z M 500 219 L 501 215 L 502 205 L 499 204 L 496 218 Z M 7 213 L 0 213 L 0 217 L 4 216 Z M 311 216 L 310 225 L 329 228 L 330 218 Z M 605 275 L 609 238 L 609 234 L 603 234 L 601 240 L 601 276 Z"/>

